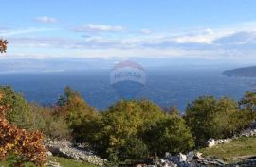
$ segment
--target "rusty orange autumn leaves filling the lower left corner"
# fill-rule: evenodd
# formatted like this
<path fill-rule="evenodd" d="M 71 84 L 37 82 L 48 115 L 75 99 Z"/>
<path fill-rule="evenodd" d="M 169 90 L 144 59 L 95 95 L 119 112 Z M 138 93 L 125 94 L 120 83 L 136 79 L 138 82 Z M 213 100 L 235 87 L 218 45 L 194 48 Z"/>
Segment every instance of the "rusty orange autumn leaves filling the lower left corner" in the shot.
<path fill-rule="evenodd" d="M 0 92 L 0 100 L 3 93 Z M 17 156 L 15 166 L 23 166 L 32 162 L 42 166 L 46 163 L 46 148 L 43 134 L 39 131 L 30 132 L 9 124 L 5 118 L 6 106 L 0 106 L 0 159 L 6 159 L 9 154 Z"/>

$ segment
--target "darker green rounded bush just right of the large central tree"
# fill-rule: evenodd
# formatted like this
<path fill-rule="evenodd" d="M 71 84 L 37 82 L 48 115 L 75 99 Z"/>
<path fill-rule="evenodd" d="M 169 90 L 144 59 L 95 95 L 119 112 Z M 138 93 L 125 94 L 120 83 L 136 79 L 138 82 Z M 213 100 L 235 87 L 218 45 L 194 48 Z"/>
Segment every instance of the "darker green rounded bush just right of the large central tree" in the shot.
<path fill-rule="evenodd" d="M 147 129 L 144 135 L 144 141 L 149 145 L 151 153 L 159 156 L 163 156 L 165 152 L 185 152 L 194 146 L 192 133 L 178 114 L 166 115 Z"/>

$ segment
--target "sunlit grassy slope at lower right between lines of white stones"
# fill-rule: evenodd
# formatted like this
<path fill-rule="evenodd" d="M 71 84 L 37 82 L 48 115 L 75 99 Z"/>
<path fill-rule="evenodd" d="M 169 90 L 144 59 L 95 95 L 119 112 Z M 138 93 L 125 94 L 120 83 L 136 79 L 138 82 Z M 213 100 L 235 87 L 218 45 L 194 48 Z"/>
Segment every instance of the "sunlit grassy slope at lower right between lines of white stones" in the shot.
<path fill-rule="evenodd" d="M 250 156 L 256 156 L 256 137 L 241 137 L 229 143 L 200 149 L 203 156 L 223 159 L 227 162 L 239 161 Z"/>

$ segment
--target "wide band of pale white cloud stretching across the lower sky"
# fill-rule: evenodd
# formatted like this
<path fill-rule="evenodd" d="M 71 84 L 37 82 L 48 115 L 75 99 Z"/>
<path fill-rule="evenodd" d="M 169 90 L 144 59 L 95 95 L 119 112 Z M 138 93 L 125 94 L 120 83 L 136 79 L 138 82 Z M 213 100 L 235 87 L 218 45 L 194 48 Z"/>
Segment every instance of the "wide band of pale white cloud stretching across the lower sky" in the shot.
<path fill-rule="evenodd" d="M 21 52 L 25 57 L 35 54 L 40 58 L 197 57 L 243 60 L 254 58 L 256 54 L 256 29 L 253 27 L 247 26 L 245 29 L 244 26 L 231 26 L 151 32 L 147 31 L 148 29 L 124 31 L 125 28 L 119 25 L 83 25 L 76 31 L 88 33 L 82 33 L 79 38 L 70 34 L 64 34 L 63 38 L 58 38 L 52 33 L 52 36 L 48 37 L 27 35 L 35 31 L 50 30 L 46 28 L 6 30 L 5 33 L 24 34 L 9 38 L 9 43 L 11 48 L 15 48 L 15 53 Z M 1 32 L 4 31 L 0 30 L 0 35 Z"/>

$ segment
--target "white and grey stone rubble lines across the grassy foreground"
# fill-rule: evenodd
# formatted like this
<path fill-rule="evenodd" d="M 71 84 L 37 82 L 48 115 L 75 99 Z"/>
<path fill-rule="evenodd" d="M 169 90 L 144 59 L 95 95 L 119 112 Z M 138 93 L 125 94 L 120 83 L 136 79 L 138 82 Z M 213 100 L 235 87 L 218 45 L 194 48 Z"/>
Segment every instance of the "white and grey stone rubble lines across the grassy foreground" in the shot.
<path fill-rule="evenodd" d="M 256 136 L 256 125 L 244 130 L 240 135 L 229 139 L 214 140 L 210 139 L 207 143 L 209 147 L 228 143 L 239 137 L 252 137 Z M 58 155 L 70 159 L 79 159 L 89 163 L 104 166 L 106 159 L 101 159 L 93 152 L 87 149 L 82 144 L 75 144 L 68 141 L 53 141 L 47 140 L 46 146 L 49 149 L 48 156 Z M 54 162 L 49 162 L 49 166 L 60 167 Z M 178 155 L 171 155 L 166 153 L 165 157 L 156 160 L 155 164 L 137 164 L 136 167 L 205 167 L 205 166 L 228 166 L 228 167 L 253 167 L 256 166 L 256 159 L 244 159 L 243 161 L 227 164 L 222 159 L 212 159 L 210 157 L 203 157 L 202 153 L 197 151 L 189 152 L 188 154 L 179 153 Z"/>

